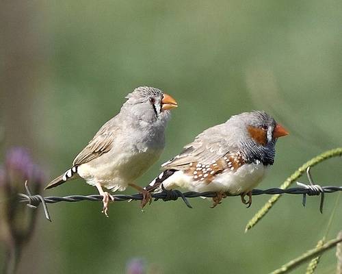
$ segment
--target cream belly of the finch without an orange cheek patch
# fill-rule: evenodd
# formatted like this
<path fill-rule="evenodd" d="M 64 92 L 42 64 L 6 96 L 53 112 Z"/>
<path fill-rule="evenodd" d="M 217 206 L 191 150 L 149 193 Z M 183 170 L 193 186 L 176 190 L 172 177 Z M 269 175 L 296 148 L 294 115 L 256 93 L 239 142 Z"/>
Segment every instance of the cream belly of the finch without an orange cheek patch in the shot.
<path fill-rule="evenodd" d="M 112 191 L 123 191 L 134 183 L 158 158 L 161 151 L 127 151 L 126 153 L 106 153 L 86 164 L 81 164 L 77 172 L 92 186 L 101 186 Z"/>

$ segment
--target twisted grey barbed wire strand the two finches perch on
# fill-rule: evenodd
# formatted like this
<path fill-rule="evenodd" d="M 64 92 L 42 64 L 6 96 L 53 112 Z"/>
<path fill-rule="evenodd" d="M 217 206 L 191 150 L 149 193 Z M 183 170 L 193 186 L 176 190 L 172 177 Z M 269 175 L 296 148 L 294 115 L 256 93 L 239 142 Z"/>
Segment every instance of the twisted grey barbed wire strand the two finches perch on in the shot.
<path fill-rule="evenodd" d="M 317 184 L 313 184 L 313 181 L 311 177 L 308 178 L 310 184 L 304 184 L 301 182 L 298 182 L 297 188 L 269 188 L 266 190 L 260 190 L 260 189 L 254 189 L 252 190 L 252 195 L 282 195 L 282 194 L 289 194 L 289 195 L 303 195 L 302 197 L 302 205 L 305 206 L 306 204 L 306 195 L 314 196 L 314 195 L 321 195 L 321 201 L 319 204 L 319 211 L 323 212 L 323 205 L 324 205 L 324 193 L 332 193 L 337 191 L 342 191 L 342 186 L 319 186 Z M 29 186 L 27 185 L 27 182 L 25 182 L 25 188 L 27 191 L 27 194 L 19 193 L 18 196 L 20 197 L 21 203 L 27 203 L 27 206 L 30 208 L 37 208 L 40 203 L 42 203 L 45 217 L 51 221 L 49 210 L 47 208 L 47 203 L 59 203 L 59 202 L 77 202 L 77 201 L 102 201 L 103 196 L 102 195 L 69 195 L 65 197 L 55 197 L 55 196 L 49 196 L 49 197 L 42 197 L 42 195 L 33 195 L 31 193 L 31 190 L 29 189 Z M 179 190 L 166 190 L 163 188 L 161 192 L 157 193 L 151 193 L 151 196 L 155 201 L 162 200 L 162 201 L 176 201 L 177 199 L 181 198 L 183 199 L 185 205 L 188 208 L 192 208 L 188 198 L 196 198 L 196 197 L 207 197 L 212 198 L 216 197 L 218 194 L 217 192 L 181 192 Z M 239 196 L 239 194 L 232 195 L 230 193 L 226 193 L 227 196 L 233 197 L 233 196 Z M 114 201 L 130 201 L 130 200 L 142 200 L 142 194 L 133 194 L 133 195 L 123 195 L 123 194 L 117 194 L 112 195 L 114 197 Z"/>

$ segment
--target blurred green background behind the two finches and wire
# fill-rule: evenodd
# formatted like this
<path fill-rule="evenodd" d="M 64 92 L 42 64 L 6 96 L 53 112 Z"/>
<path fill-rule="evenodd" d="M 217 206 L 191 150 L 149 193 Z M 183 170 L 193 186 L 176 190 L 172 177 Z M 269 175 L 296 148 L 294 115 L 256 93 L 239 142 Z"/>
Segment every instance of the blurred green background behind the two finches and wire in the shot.
<path fill-rule="evenodd" d="M 49 179 L 65 171 L 124 96 L 137 86 L 172 95 L 167 145 L 137 183 L 207 127 L 248 110 L 265 110 L 291 135 L 260 188 L 279 186 L 298 166 L 341 146 L 341 1 L 10 1 L 0 4 L 1 136 L 5 151 L 29 147 Z M 341 159 L 313 169 L 341 185 Z M 302 181 L 307 182 L 305 177 Z M 133 193 L 127 190 L 127 193 Z M 81 180 L 44 195 L 88 195 Z M 18 273 L 125 273 L 142 258 L 147 273 L 267 273 L 311 249 L 324 235 L 337 194 L 282 197 L 247 234 L 247 221 L 269 198 L 101 203 L 40 209 Z M 341 227 L 341 203 L 328 238 Z M 3 258 L 1 256 L 0 258 Z M 1 259 L 0 259 L 1 260 Z M 0 261 L 1 263 L 1 261 Z M 334 251 L 317 273 L 334 273 Z M 305 266 L 293 273 L 303 273 Z"/>

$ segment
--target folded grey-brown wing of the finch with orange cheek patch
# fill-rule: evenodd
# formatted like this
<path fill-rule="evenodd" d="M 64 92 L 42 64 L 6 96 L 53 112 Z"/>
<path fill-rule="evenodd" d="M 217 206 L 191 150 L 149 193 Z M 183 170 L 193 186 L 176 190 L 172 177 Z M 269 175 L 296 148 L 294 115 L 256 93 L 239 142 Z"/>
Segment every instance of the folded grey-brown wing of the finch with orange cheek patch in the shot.
<path fill-rule="evenodd" d="M 212 164 L 229 152 L 229 146 L 221 134 L 213 130 L 206 130 L 198 135 L 194 142 L 186 145 L 183 151 L 161 166 L 166 169 L 188 169 L 189 164 L 198 162 L 200 164 Z"/>

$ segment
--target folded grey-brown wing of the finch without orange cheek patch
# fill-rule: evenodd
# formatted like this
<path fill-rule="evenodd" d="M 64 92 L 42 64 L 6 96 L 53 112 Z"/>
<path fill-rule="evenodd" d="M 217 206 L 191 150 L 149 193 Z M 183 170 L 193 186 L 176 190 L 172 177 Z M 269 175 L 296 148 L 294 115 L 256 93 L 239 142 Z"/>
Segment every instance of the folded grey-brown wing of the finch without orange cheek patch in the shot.
<path fill-rule="evenodd" d="M 73 162 L 74 166 L 90 162 L 112 149 L 116 132 L 109 126 L 110 122 L 111 120 L 105 123 L 88 145 L 76 156 Z"/>

